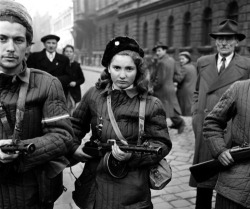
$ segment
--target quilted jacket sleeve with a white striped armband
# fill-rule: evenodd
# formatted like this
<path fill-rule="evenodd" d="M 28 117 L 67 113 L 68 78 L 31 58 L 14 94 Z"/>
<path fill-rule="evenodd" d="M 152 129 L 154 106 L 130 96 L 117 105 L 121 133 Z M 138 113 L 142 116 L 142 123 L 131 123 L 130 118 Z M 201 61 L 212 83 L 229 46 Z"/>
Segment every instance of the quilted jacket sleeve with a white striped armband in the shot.
<path fill-rule="evenodd" d="M 43 135 L 25 140 L 25 143 L 34 143 L 36 150 L 31 155 L 20 158 L 20 172 L 61 157 L 78 147 L 77 143 L 73 142 L 73 129 L 66 99 L 58 79 L 53 78 L 45 91 L 46 98 L 41 109 Z"/>

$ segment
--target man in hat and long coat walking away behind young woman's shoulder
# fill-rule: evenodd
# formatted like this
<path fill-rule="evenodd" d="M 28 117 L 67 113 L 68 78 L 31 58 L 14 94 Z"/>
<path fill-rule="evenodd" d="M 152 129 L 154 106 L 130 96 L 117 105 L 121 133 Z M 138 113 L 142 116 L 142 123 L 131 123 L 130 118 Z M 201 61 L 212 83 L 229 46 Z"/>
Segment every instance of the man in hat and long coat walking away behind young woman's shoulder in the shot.
<path fill-rule="evenodd" d="M 154 96 L 163 103 L 166 115 L 172 121 L 170 128 L 178 130 L 181 134 L 185 127 L 184 120 L 180 117 L 181 109 L 176 96 L 174 74 L 176 71 L 175 60 L 167 53 L 168 47 L 158 43 L 153 51 L 157 57 L 154 72 L 151 74 Z"/>

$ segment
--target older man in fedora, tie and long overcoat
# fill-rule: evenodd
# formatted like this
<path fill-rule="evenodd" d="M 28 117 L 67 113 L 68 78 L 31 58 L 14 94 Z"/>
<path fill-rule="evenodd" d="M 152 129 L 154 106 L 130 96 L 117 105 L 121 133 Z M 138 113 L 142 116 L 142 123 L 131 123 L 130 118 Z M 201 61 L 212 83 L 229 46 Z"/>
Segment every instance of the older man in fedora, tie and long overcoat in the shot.
<path fill-rule="evenodd" d="M 238 32 L 238 23 L 231 19 L 223 20 L 215 33 L 209 34 L 215 39 L 217 53 L 197 60 L 198 79 L 193 96 L 192 117 L 195 134 L 195 152 L 193 164 L 212 159 L 212 155 L 203 138 L 203 122 L 208 113 L 219 101 L 222 94 L 236 81 L 249 79 L 250 59 L 235 52 L 238 43 L 245 35 Z M 224 130 L 227 147 L 231 135 L 231 125 Z M 217 176 L 197 183 L 191 176 L 190 186 L 197 187 L 196 209 L 211 209 L 212 195 Z"/>

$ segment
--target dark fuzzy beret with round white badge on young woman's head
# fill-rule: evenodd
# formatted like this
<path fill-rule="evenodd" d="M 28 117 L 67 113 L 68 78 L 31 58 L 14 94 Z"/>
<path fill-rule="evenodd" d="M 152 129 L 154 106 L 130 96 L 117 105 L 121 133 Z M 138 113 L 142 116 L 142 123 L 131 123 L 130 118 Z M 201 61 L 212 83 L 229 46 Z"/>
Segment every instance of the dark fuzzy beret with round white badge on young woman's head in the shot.
<path fill-rule="evenodd" d="M 109 43 L 107 44 L 102 57 L 102 65 L 104 67 L 108 67 L 112 58 L 117 53 L 125 50 L 137 52 L 141 57 L 144 57 L 143 49 L 134 39 L 127 36 L 118 36 L 109 41 Z"/>

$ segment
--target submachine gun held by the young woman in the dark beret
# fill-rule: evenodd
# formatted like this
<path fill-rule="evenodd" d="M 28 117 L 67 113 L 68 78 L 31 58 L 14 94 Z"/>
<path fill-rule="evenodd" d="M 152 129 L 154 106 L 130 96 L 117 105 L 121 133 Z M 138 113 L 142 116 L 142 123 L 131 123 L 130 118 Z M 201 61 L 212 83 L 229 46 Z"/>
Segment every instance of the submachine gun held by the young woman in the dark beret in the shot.
<path fill-rule="evenodd" d="M 109 139 L 107 143 L 101 143 L 99 140 L 88 141 L 83 147 L 83 152 L 92 157 L 103 157 L 107 152 L 112 151 L 112 145 L 115 140 Z M 162 152 L 161 147 L 151 146 L 149 143 L 143 145 L 118 145 L 119 148 L 124 152 L 134 153 L 151 153 L 160 155 Z"/>

